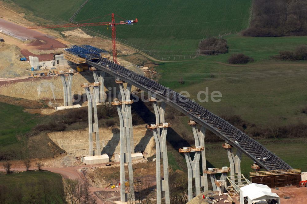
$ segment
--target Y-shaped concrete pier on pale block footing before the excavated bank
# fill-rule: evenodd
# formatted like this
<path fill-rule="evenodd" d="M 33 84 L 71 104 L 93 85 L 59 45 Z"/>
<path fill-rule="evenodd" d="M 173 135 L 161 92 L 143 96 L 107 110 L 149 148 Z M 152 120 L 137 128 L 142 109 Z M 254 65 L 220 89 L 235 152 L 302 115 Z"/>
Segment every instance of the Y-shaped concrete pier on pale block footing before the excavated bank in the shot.
<path fill-rule="evenodd" d="M 90 92 L 90 87 L 93 87 L 93 93 Z M 99 82 L 91 84 L 81 84 L 81 87 L 85 89 L 88 100 L 88 142 L 89 142 L 89 156 L 101 155 L 100 141 L 99 141 L 99 129 L 98 129 L 98 115 L 97 115 L 97 97 L 99 94 Z M 94 109 L 94 121 L 92 121 L 92 112 Z M 96 150 L 93 151 L 93 136 L 96 139 Z"/>

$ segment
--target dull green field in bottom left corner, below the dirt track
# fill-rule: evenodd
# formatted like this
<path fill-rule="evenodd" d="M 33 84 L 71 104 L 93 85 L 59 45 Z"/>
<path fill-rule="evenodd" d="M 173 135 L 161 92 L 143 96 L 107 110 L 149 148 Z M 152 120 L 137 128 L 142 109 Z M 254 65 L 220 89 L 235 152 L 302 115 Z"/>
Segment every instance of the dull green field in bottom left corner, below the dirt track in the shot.
<path fill-rule="evenodd" d="M 0 174 L 1 203 L 64 203 L 62 176 L 50 171 Z"/>

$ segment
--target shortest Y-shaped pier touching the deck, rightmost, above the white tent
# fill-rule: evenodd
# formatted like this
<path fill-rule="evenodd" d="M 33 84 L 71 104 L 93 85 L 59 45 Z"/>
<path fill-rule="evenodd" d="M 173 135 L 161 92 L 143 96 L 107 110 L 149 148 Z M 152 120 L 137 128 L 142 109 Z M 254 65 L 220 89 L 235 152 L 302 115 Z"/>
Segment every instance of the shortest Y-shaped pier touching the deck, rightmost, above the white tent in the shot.
<path fill-rule="evenodd" d="M 230 164 L 230 176 L 231 179 L 234 179 L 234 175 L 241 174 L 241 151 L 237 149 L 236 155 L 233 154 L 231 145 L 229 143 L 224 143 L 223 148 L 227 150 L 227 155 Z M 238 179 L 238 182 L 241 182 L 241 179 Z"/>

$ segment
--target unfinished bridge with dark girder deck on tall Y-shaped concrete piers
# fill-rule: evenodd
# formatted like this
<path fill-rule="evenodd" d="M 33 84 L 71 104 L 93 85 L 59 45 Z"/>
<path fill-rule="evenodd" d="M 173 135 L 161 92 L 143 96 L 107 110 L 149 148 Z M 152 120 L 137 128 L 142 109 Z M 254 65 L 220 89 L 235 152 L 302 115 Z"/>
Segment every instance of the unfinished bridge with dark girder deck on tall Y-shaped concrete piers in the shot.
<path fill-rule="evenodd" d="M 130 93 L 131 85 L 138 89 L 147 92 L 150 96 L 150 101 L 155 103 L 156 124 L 149 125 L 148 128 L 154 131 L 154 137 L 156 141 L 156 153 L 157 155 L 157 203 L 161 203 L 161 193 L 164 193 L 165 203 L 169 202 L 169 185 L 168 185 L 168 161 L 166 150 L 166 132 L 170 127 L 169 123 L 164 121 L 165 104 L 177 109 L 183 114 L 187 115 L 191 120 L 188 124 L 192 126 L 193 135 L 195 138 L 195 147 L 193 151 L 197 152 L 197 157 L 194 157 L 192 161 L 188 155 L 188 150 L 191 148 L 184 148 L 186 150 L 185 156 L 187 159 L 187 165 L 191 168 L 191 173 L 188 175 L 192 181 L 192 177 L 197 179 L 196 192 L 199 191 L 201 186 L 204 189 L 208 189 L 207 174 L 203 173 L 203 176 L 195 176 L 199 172 L 199 159 L 202 158 L 202 169 L 206 170 L 205 152 L 204 152 L 204 134 L 208 129 L 214 134 L 223 139 L 226 143 L 223 147 L 227 149 L 227 154 L 230 162 L 231 176 L 235 174 L 240 175 L 240 158 L 241 153 L 247 155 L 252 159 L 256 166 L 259 166 L 267 171 L 271 170 L 290 170 L 293 169 L 290 165 L 276 156 L 274 153 L 266 149 L 263 145 L 258 143 L 255 139 L 252 139 L 247 134 L 234 127 L 226 120 L 223 120 L 219 116 L 216 116 L 206 108 L 200 106 L 196 102 L 180 95 L 179 93 L 164 87 L 163 85 L 144 77 L 138 73 L 135 73 L 125 67 L 115 64 L 114 62 L 103 58 L 104 51 L 89 45 L 73 46 L 64 50 L 64 57 L 68 61 L 72 62 L 86 62 L 95 68 L 95 72 L 108 73 L 116 78 L 116 83 L 120 84 L 121 99 L 115 101 L 113 105 L 116 105 L 120 118 L 120 166 L 121 166 L 121 183 L 125 183 L 124 164 L 128 163 L 129 167 L 129 181 L 133 182 L 132 163 L 131 156 L 134 154 L 133 143 L 133 131 L 131 120 L 131 104 Z M 101 75 L 104 77 L 104 74 Z M 97 81 L 98 82 L 98 81 Z M 128 83 L 125 89 L 122 85 L 123 82 Z M 99 84 L 103 87 L 103 84 Z M 157 100 L 162 101 L 161 106 L 157 104 Z M 197 130 L 196 124 L 201 126 L 200 131 Z M 232 152 L 232 147 L 236 148 L 236 155 Z M 182 151 L 182 150 L 181 150 Z M 198 153 L 199 152 L 199 153 Z M 160 156 L 161 155 L 161 156 Z M 163 161 L 164 179 L 161 180 L 160 176 L 160 159 Z M 166 158 L 165 158 L 166 157 Z M 158 161 L 159 160 L 159 161 Z M 257 169 L 257 168 L 255 168 Z M 193 171 L 192 171 L 193 170 Z M 198 172 L 197 172 L 198 171 Z M 205 171 L 204 171 L 205 172 Z M 159 175 L 158 175 L 159 174 Z M 190 178 L 191 177 L 191 178 Z M 189 200 L 192 199 L 192 187 L 191 194 L 189 192 Z M 190 191 L 190 190 L 189 190 Z M 130 185 L 130 193 L 134 192 L 133 185 Z M 134 193 L 131 194 L 131 198 L 134 199 Z M 125 194 L 125 185 L 121 186 L 121 201 L 127 201 L 127 195 Z"/>

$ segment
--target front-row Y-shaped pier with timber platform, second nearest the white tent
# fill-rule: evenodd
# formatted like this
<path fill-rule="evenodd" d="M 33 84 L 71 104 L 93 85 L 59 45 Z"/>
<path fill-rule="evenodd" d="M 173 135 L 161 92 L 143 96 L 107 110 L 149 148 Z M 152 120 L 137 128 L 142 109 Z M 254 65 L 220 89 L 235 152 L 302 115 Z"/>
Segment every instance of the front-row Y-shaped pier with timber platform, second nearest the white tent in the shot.
<path fill-rule="evenodd" d="M 196 195 L 200 194 L 200 174 L 199 174 L 199 159 L 200 151 L 196 151 L 194 159 L 191 159 L 190 153 L 185 152 L 185 160 L 188 167 L 188 200 L 193 199 L 193 185 L 192 179 L 195 178 L 195 191 Z"/>

